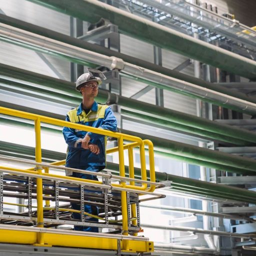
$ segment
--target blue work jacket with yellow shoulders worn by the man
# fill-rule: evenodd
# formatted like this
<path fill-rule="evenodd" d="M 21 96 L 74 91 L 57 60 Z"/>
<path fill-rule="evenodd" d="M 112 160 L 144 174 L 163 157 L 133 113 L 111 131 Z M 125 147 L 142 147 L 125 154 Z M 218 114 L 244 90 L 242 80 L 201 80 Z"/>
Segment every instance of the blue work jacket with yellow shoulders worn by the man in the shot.
<path fill-rule="evenodd" d="M 83 110 L 81 103 L 67 113 L 65 120 L 111 131 L 116 131 L 117 128 L 112 109 L 107 105 L 98 104 L 96 101 L 94 101 L 87 114 Z M 105 167 L 106 136 L 68 127 L 63 127 L 62 133 L 68 145 L 66 167 L 98 166 L 99 170 Z M 89 149 L 81 147 L 81 140 L 86 133 L 90 136 L 90 143 L 98 145 L 99 154 L 92 153 Z M 69 175 L 71 174 L 69 173 Z"/>

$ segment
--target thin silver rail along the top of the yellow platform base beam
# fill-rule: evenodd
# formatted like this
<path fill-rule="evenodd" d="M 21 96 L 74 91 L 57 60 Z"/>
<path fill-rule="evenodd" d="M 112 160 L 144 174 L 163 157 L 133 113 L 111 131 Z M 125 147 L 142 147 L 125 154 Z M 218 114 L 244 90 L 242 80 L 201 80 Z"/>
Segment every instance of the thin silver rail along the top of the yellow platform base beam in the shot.
<path fill-rule="evenodd" d="M 18 226 L 18 225 L 6 225 L 0 224 L 0 229 L 4 230 L 18 230 L 18 231 L 29 231 L 37 233 L 53 233 L 53 234 L 68 234 L 68 235 L 80 235 L 80 236 L 91 236 L 91 237 L 104 237 L 104 238 L 115 238 L 122 240 L 138 240 L 138 241 L 148 241 L 148 237 L 141 236 L 128 236 L 121 234 L 105 234 L 105 233 L 95 233 L 95 232 L 86 232 L 86 231 L 75 231 L 75 230 L 60 230 L 60 229 L 51 229 L 45 227 L 27 227 L 27 226 Z"/>

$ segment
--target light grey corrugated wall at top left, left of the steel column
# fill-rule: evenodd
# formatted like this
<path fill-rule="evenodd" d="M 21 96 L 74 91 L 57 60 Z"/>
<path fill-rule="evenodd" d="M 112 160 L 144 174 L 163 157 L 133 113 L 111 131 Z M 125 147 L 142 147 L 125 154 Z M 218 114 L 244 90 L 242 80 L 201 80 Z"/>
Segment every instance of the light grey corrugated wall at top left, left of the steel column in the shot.
<path fill-rule="evenodd" d="M 0 0 L 0 9 L 6 15 L 23 21 L 69 34 L 69 16 L 26 0 Z M 47 18 L 45 18 L 47 17 Z M 36 52 L 0 41 L 1 63 L 33 72 L 69 80 L 69 62 L 43 55 L 61 75 L 51 70 Z"/>

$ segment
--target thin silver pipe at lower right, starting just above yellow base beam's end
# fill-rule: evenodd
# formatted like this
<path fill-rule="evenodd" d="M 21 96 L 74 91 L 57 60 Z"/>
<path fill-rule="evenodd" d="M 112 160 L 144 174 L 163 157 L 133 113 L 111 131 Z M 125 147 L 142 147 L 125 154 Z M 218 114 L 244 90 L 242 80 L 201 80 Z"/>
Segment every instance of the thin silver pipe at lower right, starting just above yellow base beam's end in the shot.
<path fill-rule="evenodd" d="M 238 233 L 230 233 L 230 232 L 223 232 L 223 231 L 212 231 L 212 230 L 204 230 L 201 228 L 194 228 L 194 227 L 186 227 L 186 226 L 163 226 L 163 225 L 153 225 L 143 223 L 141 224 L 142 227 L 149 227 L 149 228 L 157 228 L 163 230 L 176 230 L 182 232 L 192 232 L 192 233 L 200 233 L 200 234 L 211 234 L 211 235 L 220 235 L 220 236 L 228 236 L 228 237 L 239 237 L 239 238 L 247 238 L 256 240 L 256 234 L 238 234 Z"/>

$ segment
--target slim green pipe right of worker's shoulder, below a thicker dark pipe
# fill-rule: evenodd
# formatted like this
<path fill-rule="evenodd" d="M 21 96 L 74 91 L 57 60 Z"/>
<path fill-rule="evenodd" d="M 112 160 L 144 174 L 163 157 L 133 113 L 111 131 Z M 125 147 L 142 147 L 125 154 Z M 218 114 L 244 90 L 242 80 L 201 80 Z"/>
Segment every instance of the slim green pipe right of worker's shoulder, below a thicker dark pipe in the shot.
<path fill-rule="evenodd" d="M 160 119 L 160 118 L 155 118 L 155 117 L 148 116 L 148 115 L 145 115 L 142 113 L 129 111 L 127 109 L 121 109 L 121 116 L 133 117 L 135 120 L 148 121 L 148 123 L 150 123 L 150 124 L 156 123 L 156 124 L 162 125 L 166 128 L 175 129 L 177 132 L 184 131 L 184 132 L 188 132 L 191 134 L 203 136 L 204 138 L 211 138 L 213 140 L 225 141 L 225 142 L 236 144 L 236 145 L 250 146 L 253 144 L 251 142 L 244 141 L 239 138 L 232 138 L 229 136 L 221 135 L 219 133 L 214 133 L 214 132 L 210 132 L 207 130 L 202 130 L 202 129 L 198 129 L 195 127 L 183 125 L 180 123 L 171 122 L 171 121 L 167 121 L 167 120 Z"/>

